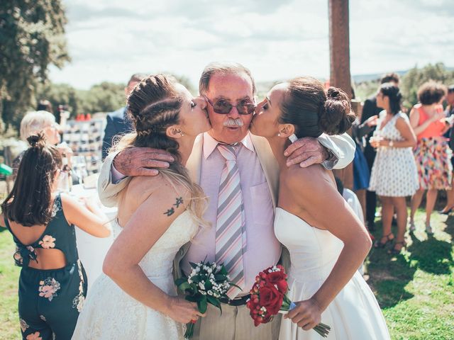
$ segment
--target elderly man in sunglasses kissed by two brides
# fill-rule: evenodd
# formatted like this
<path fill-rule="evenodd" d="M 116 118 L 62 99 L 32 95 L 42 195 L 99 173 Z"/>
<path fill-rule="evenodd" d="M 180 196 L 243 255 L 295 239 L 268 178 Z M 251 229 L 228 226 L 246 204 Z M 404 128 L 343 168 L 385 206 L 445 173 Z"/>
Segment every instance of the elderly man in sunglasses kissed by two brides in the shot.
<path fill-rule="evenodd" d="M 245 306 L 255 276 L 275 265 L 282 252 L 273 230 L 279 169 L 267 140 L 248 131 L 253 118 L 254 106 L 250 104 L 254 101 L 255 83 L 250 71 L 240 64 L 213 63 L 204 69 L 199 91 L 208 103 L 212 129 L 197 137 L 186 165 L 192 179 L 209 197 L 204 218 L 212 227 L 201 230 L 192 244 L 180 249 L 175 270 L 179 273 L 182 266 L 188 273 L 189 261 L 198 262 L 205 257 L 209 261 L 221 261 L 242 290 L 229 292 L 231 300 L 224 301 L 222 316 L 209 306 L 206 317 L 196 324 L 194 339 L 277 339 L 280 318 L 254 327 Z M 240 181 L 236 188 L 226 189 L 228 184 L 223 177 L 226 145 L 235 149 L 233 159 L 228 160 L 233 160 L 238 169 L 233 171 Z M 118 181 L 118 171 L 128 176 L 153 175 L 157 170 L 149 167 L 165 166 L 170 159 L 158 151 L 131 148 L 109 155 L 99 176 L 102 202 L 105 205 L 117 203 L 118 193 L 124 187 L 124 181 Z M 354 152 L 353 140 L 347 135 L 304 138 L 286 151 L 289 164 L 302 162 L 301 166 L 308 166 L 323 162 L 324 166 L 332 168 L 337 163 L 338 169 L 351 162 Z M 231 190 L 231 194 L 226 195 L 226 190 Z M 224 200 L 226 196 L 232 199 Z M 226 202 L 238 199 L 235 205 L 238 209 L 229 209 L 233 204 Z"/>

